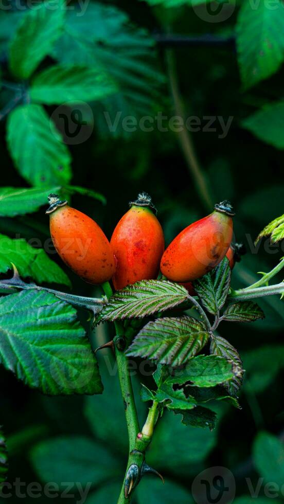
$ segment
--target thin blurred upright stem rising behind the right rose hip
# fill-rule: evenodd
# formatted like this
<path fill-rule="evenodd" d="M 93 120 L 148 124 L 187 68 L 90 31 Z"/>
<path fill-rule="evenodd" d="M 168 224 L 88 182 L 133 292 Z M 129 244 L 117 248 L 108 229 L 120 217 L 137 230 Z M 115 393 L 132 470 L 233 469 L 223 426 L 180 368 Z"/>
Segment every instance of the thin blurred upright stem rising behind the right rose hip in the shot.
<path fill-rule="evenodd" d="M 166 60 L 168 65 L 168 76 L 169 76 L 171 94 L 175 109 L 174 112 L 175 115 L 182 117 L 184 119 L 185 118 L 184 105 L 182 103 L 182 98 L 180 95 L 178 76 L 176 75 L 175 59 L 172 49 L 166 50 Z M 188 170 L 191 173 L 194 185 L 196 186 L 199 196 L 203 204 L 205 205 L 206 209 L 211 209 L 212 208 L 211 195 L 209 192 L 206 178 L 199 165 L 197 155 L 194 151 L 192 137 L 189 131 L 186 130 L 186 128 L 182 128 L 182 130 L 176 134 L 178 135 Z"/>

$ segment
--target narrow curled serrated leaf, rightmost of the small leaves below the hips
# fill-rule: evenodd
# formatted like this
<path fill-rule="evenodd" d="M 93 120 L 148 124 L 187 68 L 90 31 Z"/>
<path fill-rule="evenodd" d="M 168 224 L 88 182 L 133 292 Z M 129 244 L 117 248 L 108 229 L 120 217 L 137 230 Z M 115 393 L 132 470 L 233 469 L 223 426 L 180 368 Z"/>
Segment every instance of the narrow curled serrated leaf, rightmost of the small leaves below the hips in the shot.
<path fill-rule="evenodd" d="M 239 352 L 221 336 L 212 337 L 210 352 L 214 355 L 224 357 L 230 364 L 233 364 L 235 376 L 233 380 L 225 383 L 224 386 L 231 395 L 235 396 L 243 382 L 243 366 Z"/>

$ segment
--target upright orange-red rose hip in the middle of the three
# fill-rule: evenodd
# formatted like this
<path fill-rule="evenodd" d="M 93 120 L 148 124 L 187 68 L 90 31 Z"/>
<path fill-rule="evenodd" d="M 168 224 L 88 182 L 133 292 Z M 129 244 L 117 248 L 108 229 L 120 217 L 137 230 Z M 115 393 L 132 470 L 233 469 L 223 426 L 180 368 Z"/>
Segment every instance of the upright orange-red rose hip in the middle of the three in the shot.
<path fill-rule="evenodd" d="M 139 280 L 157 278 L 165 241 L 155 213 L 150 196 L 141 193 L 118 222 L 111 238 L 117 261 L 113 276 L 116 290 Z"/>

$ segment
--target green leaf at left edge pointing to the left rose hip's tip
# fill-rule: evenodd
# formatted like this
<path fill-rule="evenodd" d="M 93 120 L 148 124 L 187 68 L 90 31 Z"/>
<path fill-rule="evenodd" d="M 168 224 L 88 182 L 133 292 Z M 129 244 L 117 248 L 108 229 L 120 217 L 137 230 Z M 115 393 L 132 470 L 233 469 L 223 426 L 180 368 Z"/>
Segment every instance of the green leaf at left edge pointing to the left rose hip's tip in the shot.
<path fill-rule="evenodd" d="M 0 217 L 14 217 L 26 213 L 37 212 L 47 203 L 47 196 L 51 192 L 58 194 L 60 186 L 41 189 L 33 187 L 1 187 L 0 188 Z"/>

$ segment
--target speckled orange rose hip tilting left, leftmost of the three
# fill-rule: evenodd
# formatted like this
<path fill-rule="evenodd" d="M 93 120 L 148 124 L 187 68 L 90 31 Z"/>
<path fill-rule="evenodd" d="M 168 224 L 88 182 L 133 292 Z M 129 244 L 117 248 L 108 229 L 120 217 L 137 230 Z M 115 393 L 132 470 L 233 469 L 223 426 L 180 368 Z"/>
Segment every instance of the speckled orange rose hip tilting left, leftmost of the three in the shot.
<path fill-rule="evenodd" d="M 84 213 L 60 201 L 57 194 L 48 196 L 50 235 L 61 259 L 88 283 L 110 280 L 115 259 L 110 242 L 98 224 Z"/>

